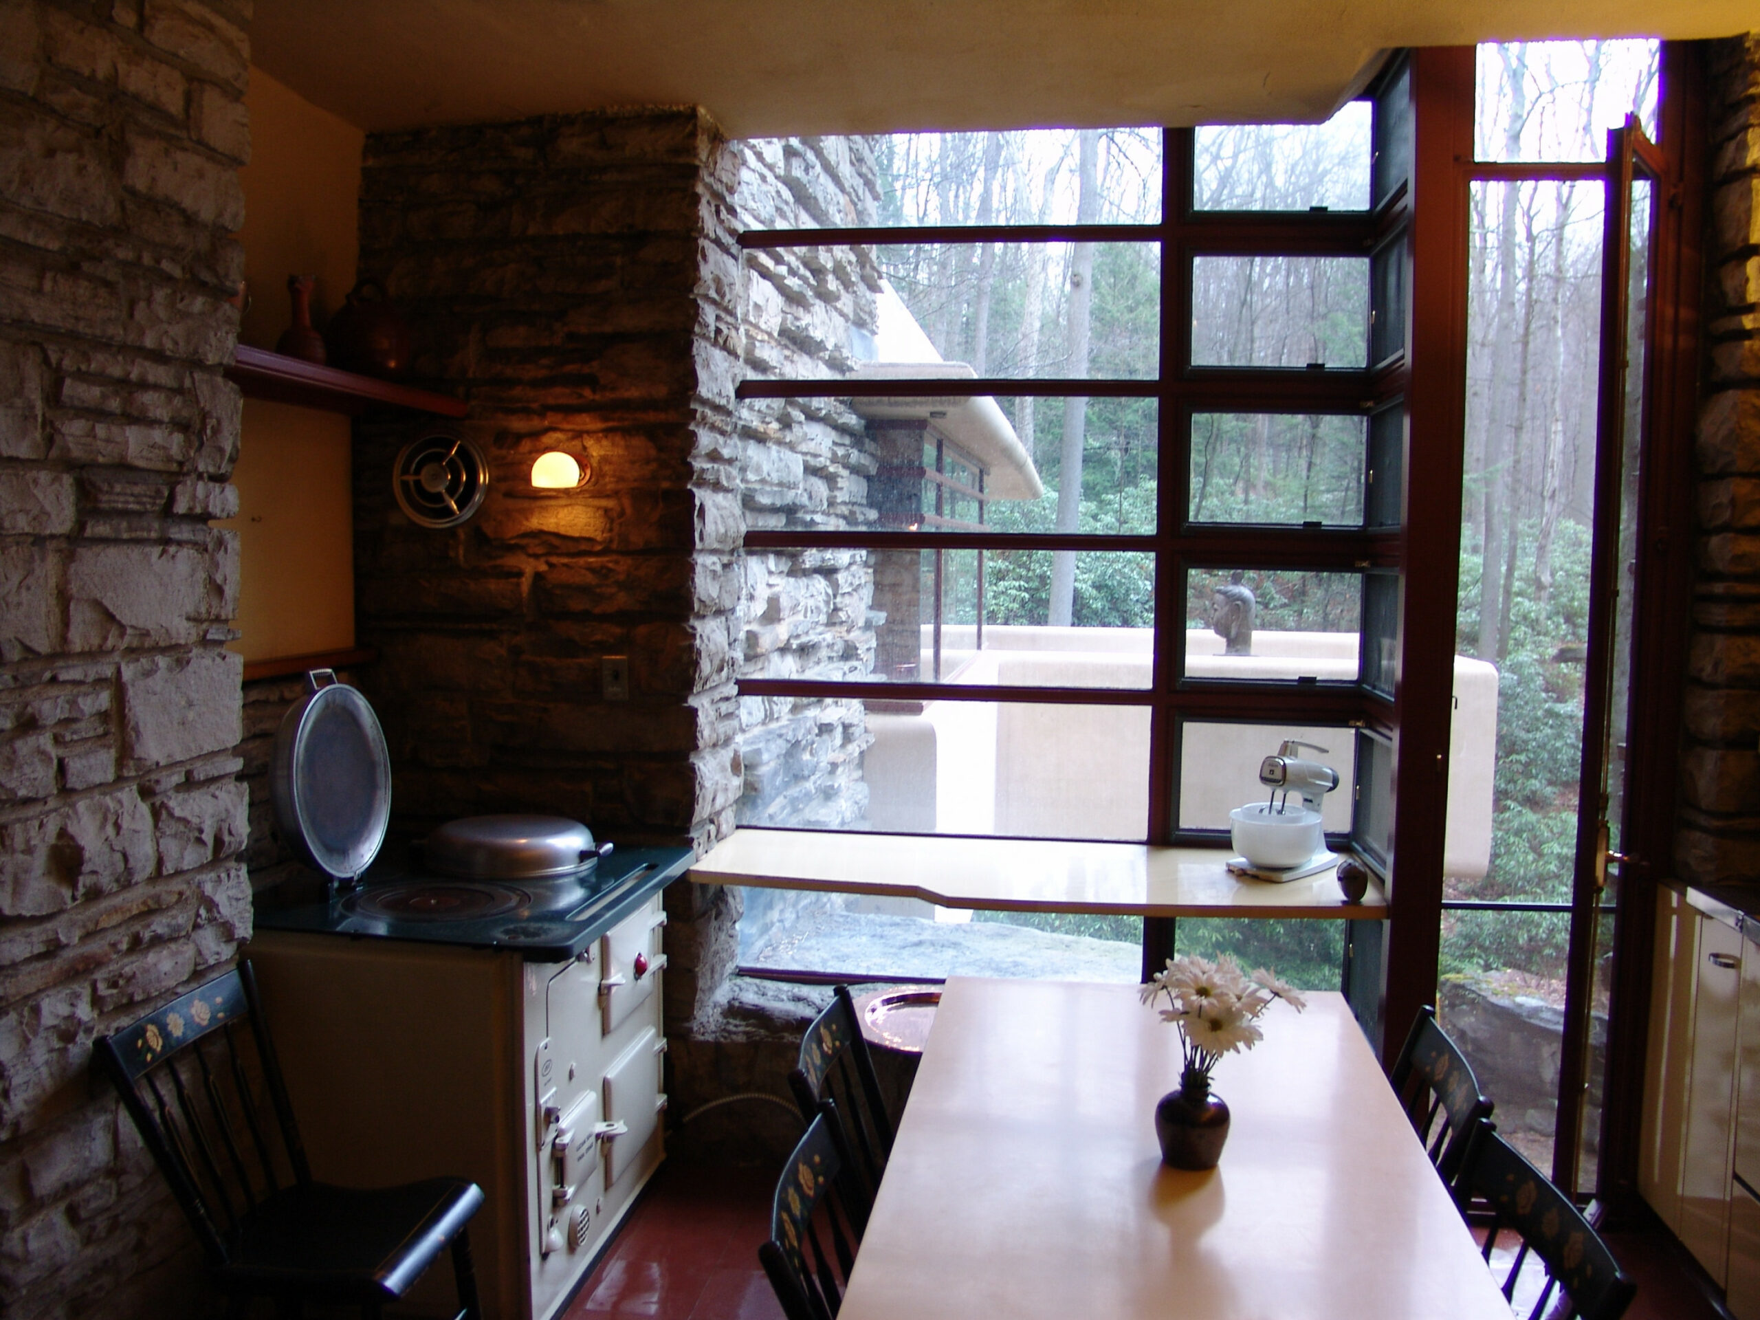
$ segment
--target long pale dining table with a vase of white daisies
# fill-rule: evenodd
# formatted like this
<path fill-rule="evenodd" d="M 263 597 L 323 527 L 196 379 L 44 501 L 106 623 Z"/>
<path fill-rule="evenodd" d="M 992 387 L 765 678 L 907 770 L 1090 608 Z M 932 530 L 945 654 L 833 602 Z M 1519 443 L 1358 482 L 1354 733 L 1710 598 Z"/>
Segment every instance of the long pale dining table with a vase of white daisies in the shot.
<path fill-rule="evenodd" d="M 1508 1320 L 1343 996 L 1260 1024 L 1181 1172 L 1179 1033 L 1133 986 L 949 980 L 840 1320 Z"/>

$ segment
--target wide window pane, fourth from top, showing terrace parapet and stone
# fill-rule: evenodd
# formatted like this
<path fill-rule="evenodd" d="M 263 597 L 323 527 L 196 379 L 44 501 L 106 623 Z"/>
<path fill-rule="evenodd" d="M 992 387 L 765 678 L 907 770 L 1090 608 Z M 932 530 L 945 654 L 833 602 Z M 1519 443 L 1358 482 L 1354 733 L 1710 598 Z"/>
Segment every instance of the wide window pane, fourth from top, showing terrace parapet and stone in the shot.
<path fill-rule="evenodd" d="M 827 620 L 824 630 L 836 635 L 836 644 L 817 653 L 817 667 L 803 664 L 813 644 L 804 628 L 778 637 L 760 665 L 753 628 L 787 609 L 776 602 L 787 600 L 797 583 L 794 574 L 778 577 L 776 567 L 790 556 L 818 560 L 822 553 L 767 554 L 773 570 L 766 590 L 773 595 L 746 604 L 753 623 L 746 630 L 741 678 L 1149 686 L 1155 556 L 1146 551 L 866 551 L 861 567 L 845 565 L 840 576 L 850 579 L 866 563 L 873 565 L 868 637 Z M 852 644 L 864 660 L 850 656 Z"/>

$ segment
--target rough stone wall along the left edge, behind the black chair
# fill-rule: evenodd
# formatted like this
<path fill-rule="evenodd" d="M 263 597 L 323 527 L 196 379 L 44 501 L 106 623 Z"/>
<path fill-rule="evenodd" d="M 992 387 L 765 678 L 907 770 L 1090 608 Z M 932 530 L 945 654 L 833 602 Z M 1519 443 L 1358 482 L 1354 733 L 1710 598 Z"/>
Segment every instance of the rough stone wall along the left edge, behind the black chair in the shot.
<path fill-rule="evenodd" d="M 190 1315 L 92 1040 L 250 933 L 236 781 L 250 0 L 0 4 L 0 1313 Z"/>

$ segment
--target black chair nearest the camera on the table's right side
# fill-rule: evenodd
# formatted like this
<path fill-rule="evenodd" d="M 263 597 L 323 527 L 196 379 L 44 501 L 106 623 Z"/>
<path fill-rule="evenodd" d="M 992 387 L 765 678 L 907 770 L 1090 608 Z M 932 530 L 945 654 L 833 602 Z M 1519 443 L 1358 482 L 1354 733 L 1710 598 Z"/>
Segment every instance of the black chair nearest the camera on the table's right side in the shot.
<path fill-rule="evenodd" d="M 1528 1320 L 1549 1315 L 1547 1306 L 1559 1290 L 1568 1306 L 1552 1311 L 1552 1320 L 1617 1320 L 1632 1304 L 1637 1285 L 1621 1272 L 1619 1262 L 1570 1197 L 1503 1140 L 1491 1119 L 1475 1123 L 1468 1137 L 1461 1188 L 1491 1209 L 1485 1264 L 1491 1264 L 1501 1230 L 1514 1230 L 1521 1239 L 1503 1280 L 1505 1299 L 1515 1304 L 1517 1281 L 1533 1257 L 1544 1269 L 1544 1287 Z"/>

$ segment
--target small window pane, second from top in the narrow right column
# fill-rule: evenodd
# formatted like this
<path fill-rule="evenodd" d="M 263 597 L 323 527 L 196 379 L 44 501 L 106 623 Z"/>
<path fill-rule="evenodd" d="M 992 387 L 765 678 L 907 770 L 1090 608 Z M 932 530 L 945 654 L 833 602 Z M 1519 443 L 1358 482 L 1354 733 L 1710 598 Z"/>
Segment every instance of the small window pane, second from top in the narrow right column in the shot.
<path fill-rule="evenodd" d="M 1362 366 L 1366 257 L 1193 257 L 1193 366 Z"/>

